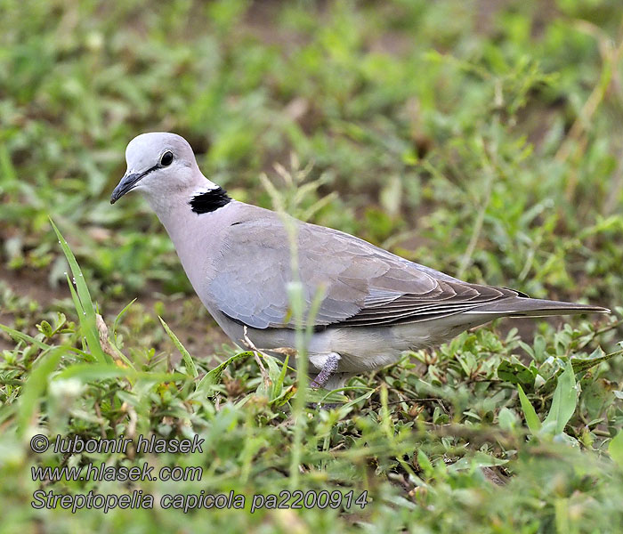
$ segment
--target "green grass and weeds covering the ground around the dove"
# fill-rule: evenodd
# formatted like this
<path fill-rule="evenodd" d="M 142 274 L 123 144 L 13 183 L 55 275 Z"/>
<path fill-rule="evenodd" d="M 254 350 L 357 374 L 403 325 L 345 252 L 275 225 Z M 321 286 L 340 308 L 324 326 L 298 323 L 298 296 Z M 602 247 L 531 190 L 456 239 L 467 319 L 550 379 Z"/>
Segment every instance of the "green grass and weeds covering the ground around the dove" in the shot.
<path fill-rule="evenodd" d="M 618 2 L 2 6 L 1 531 L 622 530 Z M 617 312 L 467 332 L 312 409 L 326 392 L 219 333 L 140 198 L 109 206 L 151 130 L 184 135 L 234 198 Z M 30 451 L 36 433 L 206 441 L 68 457 Z M 44 489 L 234 490 L 247 510 L 30 506 L 33 465 L 101 461 L 204 476 Z M 296 489 L 368 504 L 249 514 Z"/>

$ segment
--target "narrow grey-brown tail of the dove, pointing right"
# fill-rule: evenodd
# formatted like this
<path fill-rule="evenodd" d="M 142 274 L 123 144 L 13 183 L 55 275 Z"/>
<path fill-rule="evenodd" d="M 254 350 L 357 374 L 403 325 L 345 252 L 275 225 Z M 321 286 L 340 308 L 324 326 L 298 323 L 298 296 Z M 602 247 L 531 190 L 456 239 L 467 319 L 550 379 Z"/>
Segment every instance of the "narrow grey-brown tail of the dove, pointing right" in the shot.
<path fill-rule="evenodd" d="M 498 302 L 474 308 L 468 314 L 487 313 L 506 317 L 546 317 L 547 315 L 578 315 L 580 313 L 610 313 L 608 308 L 591 304 L 563 303 L 539 298 L 511 296 Z"/>

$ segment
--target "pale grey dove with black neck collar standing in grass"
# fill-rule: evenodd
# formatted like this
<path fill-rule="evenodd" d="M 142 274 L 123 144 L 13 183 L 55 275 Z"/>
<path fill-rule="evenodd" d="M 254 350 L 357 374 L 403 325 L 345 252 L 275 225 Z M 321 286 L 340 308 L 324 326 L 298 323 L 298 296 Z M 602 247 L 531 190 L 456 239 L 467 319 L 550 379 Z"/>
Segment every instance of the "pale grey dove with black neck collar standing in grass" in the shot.
<path fill-rule="evenodd" d="M 173 240 L 201 302 L 236 344 L 281 355 L 295 349 L 288 305 L 287 229 L 279 214 L 230 198 L 198 168 L 181 136 L 150 133 L 125 150 L 127 172 L 110 197 L 139 191 Z M 499 317 L 609 312 L 471 284 L 342 231 L 292 219 L 308 308 L 323 298 L 307 346 L 315 387 L 396 362 Z"/>

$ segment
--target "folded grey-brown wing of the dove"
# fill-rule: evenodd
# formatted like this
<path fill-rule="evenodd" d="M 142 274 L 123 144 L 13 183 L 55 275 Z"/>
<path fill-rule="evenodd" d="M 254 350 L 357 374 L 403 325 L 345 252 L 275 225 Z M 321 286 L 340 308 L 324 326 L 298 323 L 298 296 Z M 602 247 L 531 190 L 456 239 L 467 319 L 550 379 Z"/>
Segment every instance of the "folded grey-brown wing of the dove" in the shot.
<path fill-rule="evenodd" d="M 279 215 L 258 214 L 254 210 L 226 229 L 209 295 L 221 312 L 248 327 L 295 328 L 287 295 L 287 231 Z M 291 221 L 307 310 L 319 291 L 323 295 L 313 317 L 317 329 L 431 320 L 519 295 L 462 282 L 341 231 Z"/>

